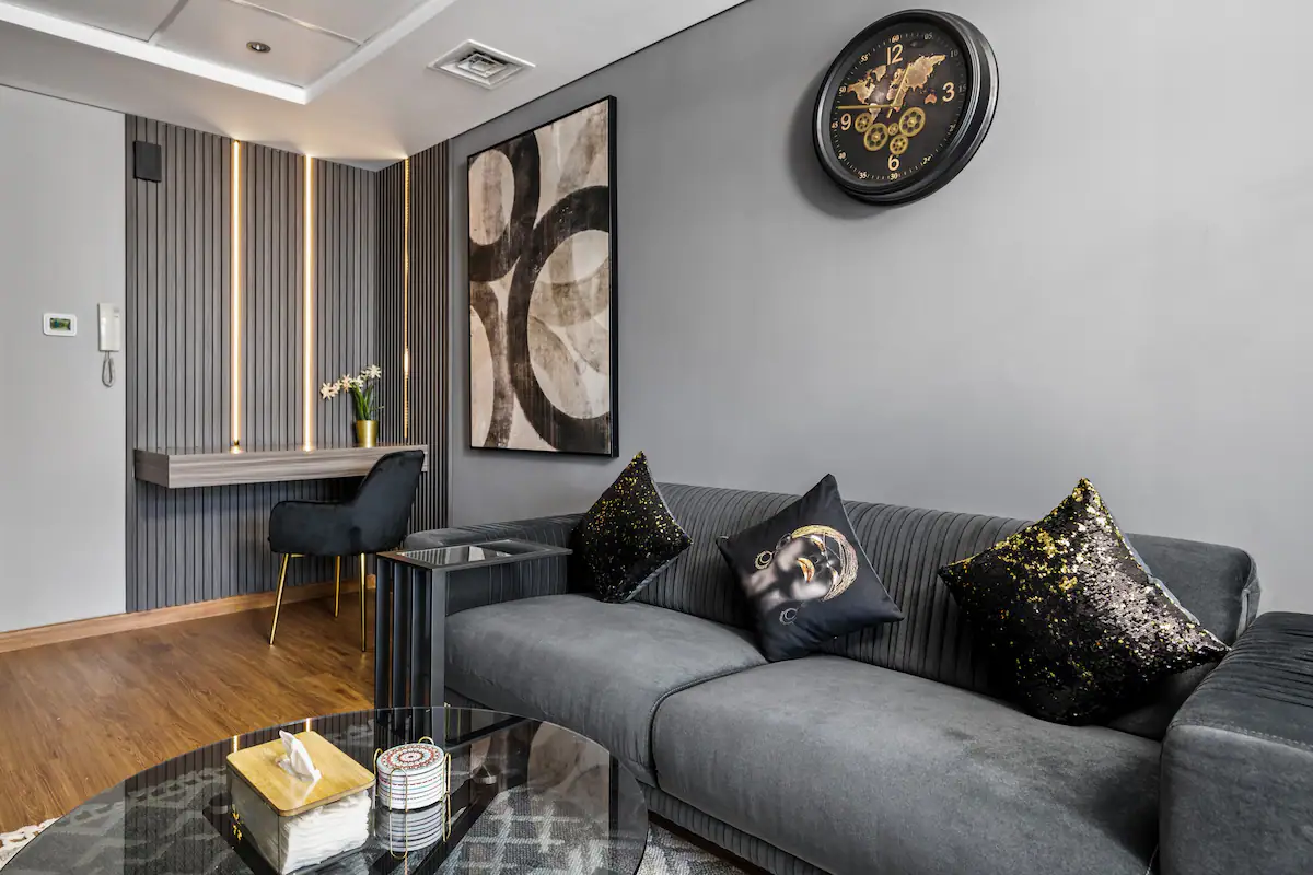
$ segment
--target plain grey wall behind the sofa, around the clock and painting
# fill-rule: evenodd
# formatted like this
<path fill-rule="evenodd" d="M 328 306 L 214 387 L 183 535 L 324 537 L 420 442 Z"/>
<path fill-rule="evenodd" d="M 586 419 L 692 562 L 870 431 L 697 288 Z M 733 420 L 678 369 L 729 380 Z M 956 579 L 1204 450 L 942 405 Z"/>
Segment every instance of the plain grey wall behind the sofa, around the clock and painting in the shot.
<path fill-rule="evenodd" d="M 1266 609 L 1313 610 L 1313 7 L 952 0 L 998 52 L 994 130 L 878 210 L 806 123 L 898 5 L 751 0 L 453 142 L 452 521 L 583 509 L 641 449 L 664 480 L 832 471 L 852 499 L 1027 518 L 1088 476 L 1128 530 L 1246 547 Z M 625 458 L 471 451 L 465 161 L 604 94 Z"/>

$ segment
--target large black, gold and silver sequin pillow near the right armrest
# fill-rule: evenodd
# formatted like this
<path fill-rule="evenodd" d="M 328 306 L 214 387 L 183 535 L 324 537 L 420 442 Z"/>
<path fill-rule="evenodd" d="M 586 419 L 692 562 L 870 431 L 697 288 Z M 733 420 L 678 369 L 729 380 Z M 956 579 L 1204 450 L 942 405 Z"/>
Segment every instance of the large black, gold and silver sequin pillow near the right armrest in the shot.
<path fill-rule="evenodd" d="M 994 681 L 1054 723 L 1115 716 L 1155 681 L 1228 651 L 1149 573 L 1088 480 L 939 576 L 983 640 Z"/>

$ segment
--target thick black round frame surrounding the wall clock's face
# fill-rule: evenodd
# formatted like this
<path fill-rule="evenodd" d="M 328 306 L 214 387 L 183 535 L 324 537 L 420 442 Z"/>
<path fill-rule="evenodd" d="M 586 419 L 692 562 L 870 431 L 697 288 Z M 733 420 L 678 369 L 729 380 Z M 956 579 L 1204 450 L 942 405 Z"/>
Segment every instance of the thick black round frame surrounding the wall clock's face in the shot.
<path fill-rule="evenodd" d="M 852 173 L 839 163 L 830 143 L 830 110 L 834 104 L 835 88 L 839 80 L 852 68 L 856 55 L 869 47 L 871 39 L 877 33 L 915 22 L 924 22 L 932 28 L 939 28 L 961 46 L 962 58 L 972 77 L 970 94 L 966 97 L 966 110 L 962 113 L 962 121 L 953 134 L 953 139 L 944 147 L 940 159 L 932 161 L 923 173 L 899 180 L 893 185 L 888 182 L 863 182 L 853 178 Z M 981 143 L 985 142 L 985 135 L 989 134 L 997 105 L 998 60 L 994 58 L 994 49 L 989 45 L 985 34 L 965 18 L 958 18 L 947 12 L 907 9 L 885 16 L 863 30 L 843 47 L 843 51 L 830 64 L 825 79 L 821 80 L 821 91 L 817 93 L 811 144 L 815 147 L 821 167 L 825 168 L 826 173 L 844 194 L 864 203 L 878 203 L 881 206 L 907 203 L 941 189 L 966 167 L 968 161 L 974 157 L 976 151 L 981 147 Z"/>

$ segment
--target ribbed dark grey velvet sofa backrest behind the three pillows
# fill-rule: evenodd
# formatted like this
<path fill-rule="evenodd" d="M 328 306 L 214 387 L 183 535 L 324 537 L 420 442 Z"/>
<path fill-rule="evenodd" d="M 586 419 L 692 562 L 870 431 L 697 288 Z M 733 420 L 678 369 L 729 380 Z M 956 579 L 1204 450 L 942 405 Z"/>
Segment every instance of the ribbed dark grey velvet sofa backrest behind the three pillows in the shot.
<path fill-rule="evenodd" d="M 750 627 L 747 603 L 716 548 L 716 538 L 769 518 L 797 496 L 675 484 L 662 484 L 660 492 L 693 543 L 638 596 L 639 601 Z M 835 639 L 826 649 L 986 691 L 983 660 L 936 572 L 1028 523 L 864 501 L 846 501 L 844 506 L 871 564 L 906 619 Z M 1130 540 L 1154 575 L 1222 640 L 1233 641 L 1257 611 L 1257 603 L 1242 606 L 1242 590 L 1255 575 L 1246 552 L 1152 535 L 1132 535 Z"/>

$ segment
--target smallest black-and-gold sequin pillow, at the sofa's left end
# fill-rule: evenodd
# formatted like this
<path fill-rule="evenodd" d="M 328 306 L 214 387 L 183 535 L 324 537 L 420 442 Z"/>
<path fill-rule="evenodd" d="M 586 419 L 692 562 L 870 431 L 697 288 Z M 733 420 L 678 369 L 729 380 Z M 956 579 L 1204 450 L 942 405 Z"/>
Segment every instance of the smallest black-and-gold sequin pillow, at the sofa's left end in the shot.
<path fill-rule="evenodd" d="M 691 543 L 642 453 L 583 516 L 570 542 L 578 576 L 604 602 L 630 601 Z"/>

